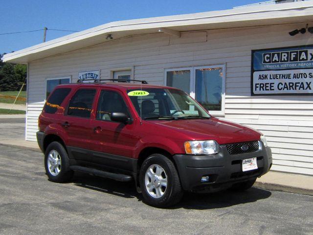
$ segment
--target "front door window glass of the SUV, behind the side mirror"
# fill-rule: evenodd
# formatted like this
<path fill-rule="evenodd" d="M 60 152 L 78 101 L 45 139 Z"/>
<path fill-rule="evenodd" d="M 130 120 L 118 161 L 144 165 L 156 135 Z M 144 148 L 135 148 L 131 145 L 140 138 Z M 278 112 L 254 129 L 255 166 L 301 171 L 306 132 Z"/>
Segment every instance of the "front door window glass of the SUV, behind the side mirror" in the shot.
<path fill-rule="evenodd" d="M 110 121 L 112 113 L 124 113 L 130 117 L 124 99 L 120 94 L 112 91 L 101 91 L 96 118 Z"/>

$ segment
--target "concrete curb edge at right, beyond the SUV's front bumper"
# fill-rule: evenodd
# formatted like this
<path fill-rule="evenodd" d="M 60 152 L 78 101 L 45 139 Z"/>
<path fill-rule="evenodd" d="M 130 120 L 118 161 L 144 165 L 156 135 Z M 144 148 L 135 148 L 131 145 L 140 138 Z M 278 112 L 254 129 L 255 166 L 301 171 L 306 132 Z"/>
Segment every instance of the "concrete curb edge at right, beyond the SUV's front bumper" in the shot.
<path fill-rule="evenodd" d="M 313 189 L 308 189 L 308 188 L 296 188 L 296 187 L 291 187 L 287 185 L 278 185 L 278 184 L 264 183 L 264 182 L 255 182 L 253 186 L 256 188 L 262 188 L 262 189 L 267 189 L 267 190 L 292 192 L 292 193 L 313 196 Z"/>

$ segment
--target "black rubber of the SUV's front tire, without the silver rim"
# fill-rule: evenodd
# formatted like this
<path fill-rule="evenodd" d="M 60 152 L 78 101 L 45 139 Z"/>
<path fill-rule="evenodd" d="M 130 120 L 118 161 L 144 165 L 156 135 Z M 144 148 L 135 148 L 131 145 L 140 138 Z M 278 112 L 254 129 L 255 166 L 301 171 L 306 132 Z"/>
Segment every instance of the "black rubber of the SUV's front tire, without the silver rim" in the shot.
<path fill-rule="evenodd" d="M 159 165 L 164 169 L 167 178 L 167 186 L 164 194 L 160 198 L 154 198 L 148 192 L 145 184 L 147 169 L 152 165 Z M 152 154 L 144 160 L 140 168 L 139 176 L 140 188 L 144 201 L 151 206 L 158 208 L 170 207 L 177 204 L 182 195 L 183 190 L 179 181 L 179 174 L 173 162 L 162 154 Z"/>

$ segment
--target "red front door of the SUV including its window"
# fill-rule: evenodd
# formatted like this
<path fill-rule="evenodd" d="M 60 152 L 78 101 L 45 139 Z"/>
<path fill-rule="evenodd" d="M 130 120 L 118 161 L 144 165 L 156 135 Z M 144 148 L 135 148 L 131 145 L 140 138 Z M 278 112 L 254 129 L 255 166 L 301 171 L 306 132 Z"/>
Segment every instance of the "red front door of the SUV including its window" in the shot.
<path fill-rule="evenodd" d="M 129 104 L 117 90 L 102 89 L 96 107 L 96 117 L 91 120 L 91 140 L 97 153 L 92 161 L 121 169 L 131 169 L 130 158 L 138 137 L 134 132 L 135 124 L 124 124 L 111 120 L 113 112 L 125 113 L 132 119 Z"/>

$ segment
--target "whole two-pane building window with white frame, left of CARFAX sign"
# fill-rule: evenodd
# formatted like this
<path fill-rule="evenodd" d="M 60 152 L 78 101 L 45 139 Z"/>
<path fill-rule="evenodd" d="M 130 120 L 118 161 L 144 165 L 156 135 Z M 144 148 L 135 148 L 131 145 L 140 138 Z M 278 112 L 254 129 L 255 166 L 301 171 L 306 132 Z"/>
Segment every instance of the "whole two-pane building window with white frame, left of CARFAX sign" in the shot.
<path fill-rule="evenodd" d="M 190 94 L 211 114 L 224 115 L 224 65 L 168 69 L 165 84 Z"/>

